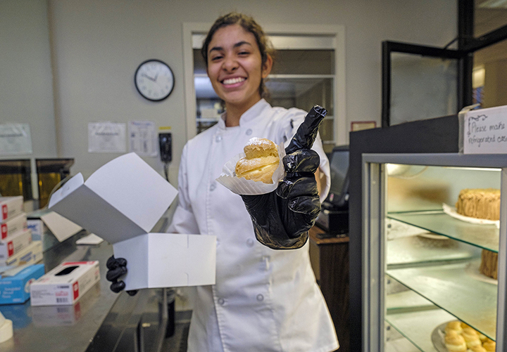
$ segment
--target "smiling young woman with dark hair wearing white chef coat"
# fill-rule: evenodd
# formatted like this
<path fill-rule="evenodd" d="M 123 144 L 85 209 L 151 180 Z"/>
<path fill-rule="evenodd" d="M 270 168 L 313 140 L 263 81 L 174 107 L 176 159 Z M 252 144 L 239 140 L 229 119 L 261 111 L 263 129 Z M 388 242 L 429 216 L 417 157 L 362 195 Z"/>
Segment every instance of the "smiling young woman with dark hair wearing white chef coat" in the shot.
<path fill-rule="evenodd" d="M 192 290 L 188 351 L 334 351 L 338 341 L 308 244 L 289 250 L 262 245 L 242 197 L 215 181 L 251 137 L 289 144 L 306 112 L 271 107 L 263 99 L 273 58 L 252 18 L 238 13 L 218 18 L 202 54 L 225 113 L 184 146 L 179 203 L 168 229 L 217 237 L 216 284 Z M 323 198 L 330 171 L 320 138 L 313 150 L 327 179 Z"/>

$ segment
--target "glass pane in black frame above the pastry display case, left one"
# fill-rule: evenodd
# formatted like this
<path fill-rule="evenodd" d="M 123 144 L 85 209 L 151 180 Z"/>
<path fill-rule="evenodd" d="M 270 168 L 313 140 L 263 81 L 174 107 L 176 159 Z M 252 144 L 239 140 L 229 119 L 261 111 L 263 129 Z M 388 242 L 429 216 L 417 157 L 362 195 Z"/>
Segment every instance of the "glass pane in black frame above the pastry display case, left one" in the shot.
<path fill-rule="evenodd" d="M 457 61 L 392 53 L 389 124 L 456 114 Z"/>

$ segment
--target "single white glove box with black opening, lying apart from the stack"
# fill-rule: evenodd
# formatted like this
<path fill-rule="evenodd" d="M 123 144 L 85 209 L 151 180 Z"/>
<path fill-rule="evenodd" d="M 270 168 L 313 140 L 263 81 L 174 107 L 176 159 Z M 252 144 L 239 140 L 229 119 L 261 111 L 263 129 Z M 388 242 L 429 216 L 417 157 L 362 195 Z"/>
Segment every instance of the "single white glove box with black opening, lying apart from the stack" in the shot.
<path fill-rule="evenodd" d="M 30 285 L 30 304 L 32 306 L 74 304 L 99 280 L 99 261 L 61 263 Z"/>

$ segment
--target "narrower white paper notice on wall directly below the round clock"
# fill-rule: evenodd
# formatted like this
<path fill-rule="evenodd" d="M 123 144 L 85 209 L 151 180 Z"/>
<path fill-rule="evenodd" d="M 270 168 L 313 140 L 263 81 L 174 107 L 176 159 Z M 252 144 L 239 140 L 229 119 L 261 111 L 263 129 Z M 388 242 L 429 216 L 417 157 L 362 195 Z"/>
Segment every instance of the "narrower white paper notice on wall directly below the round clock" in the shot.
<path fill-rule="evenodd" d="M 158 155 L 155 123 L 150 121 L 131 121 L 128 125 L 129 152 L 142 157 Z"/>

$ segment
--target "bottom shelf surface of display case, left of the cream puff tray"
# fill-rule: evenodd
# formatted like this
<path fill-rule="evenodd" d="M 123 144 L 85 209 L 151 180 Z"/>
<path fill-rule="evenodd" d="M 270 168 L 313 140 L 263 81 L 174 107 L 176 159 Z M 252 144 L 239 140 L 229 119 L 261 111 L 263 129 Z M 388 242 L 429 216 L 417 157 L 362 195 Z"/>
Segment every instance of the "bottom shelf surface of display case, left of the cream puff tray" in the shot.
<path fill-rule="evenodd" d="M 387 313 L 385 320 L 420 351 L 438 352 L 431 339 L 433 330 L 444 322 L 456 318 L 437 308 L 430 311 Z"/>

